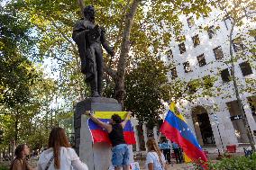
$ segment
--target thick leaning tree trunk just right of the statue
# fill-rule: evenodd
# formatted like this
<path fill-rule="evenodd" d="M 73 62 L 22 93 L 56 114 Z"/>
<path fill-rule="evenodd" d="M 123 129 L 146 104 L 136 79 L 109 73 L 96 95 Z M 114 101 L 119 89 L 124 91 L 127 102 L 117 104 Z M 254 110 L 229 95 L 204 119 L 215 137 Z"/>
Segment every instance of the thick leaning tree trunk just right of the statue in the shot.
<path fill-rule="evenodd" d="M 115 75 L 115 98 L 119 103 L 123 104 L 123 99 L 125 95 L 124 90 L 124 75 L 126 60 L 128 58 L 128 53 L 130 49 L 130 34 L 133 26 L 134 15 L 137 11 L 137 8 L 142 0 L 133 0 L 130 11 L 126 15 L 124 30 L 123 30 L 123 40 L 121 43 L 120 57 L 117 65 L 117 72 Z"/>

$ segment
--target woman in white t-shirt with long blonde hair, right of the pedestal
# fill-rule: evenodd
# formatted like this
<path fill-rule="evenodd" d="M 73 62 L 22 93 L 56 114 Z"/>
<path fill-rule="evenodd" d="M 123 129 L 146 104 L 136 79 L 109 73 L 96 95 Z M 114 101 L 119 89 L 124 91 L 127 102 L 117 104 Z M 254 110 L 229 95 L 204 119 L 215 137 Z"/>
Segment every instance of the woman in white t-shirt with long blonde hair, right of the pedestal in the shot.
<path fill-rule="evenodd" d="M 146 167 L 148 170 L 167 170 L 166 161 L 155 139 L 147 141 Z"/>

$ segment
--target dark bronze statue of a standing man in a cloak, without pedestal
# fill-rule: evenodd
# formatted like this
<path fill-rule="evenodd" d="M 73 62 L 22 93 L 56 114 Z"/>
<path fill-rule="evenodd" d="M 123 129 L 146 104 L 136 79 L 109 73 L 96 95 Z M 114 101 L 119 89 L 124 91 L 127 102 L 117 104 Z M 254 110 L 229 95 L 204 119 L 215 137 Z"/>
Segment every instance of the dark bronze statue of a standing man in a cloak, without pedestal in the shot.
<path fill-rule="evenodd" d="M 84 9 L 85 19 L 78 21 L 73 29 L 73 40 L 78 45 L 81 59 L 81 72 L 86 75 L 90 84 L 92 97 L 99 97 L 102 91 L 103 51 L 102 47 L 112 57 L 113 48 L 105 40 L 105 31 L 95 24 L 95 8 L 88 5 Z"/>

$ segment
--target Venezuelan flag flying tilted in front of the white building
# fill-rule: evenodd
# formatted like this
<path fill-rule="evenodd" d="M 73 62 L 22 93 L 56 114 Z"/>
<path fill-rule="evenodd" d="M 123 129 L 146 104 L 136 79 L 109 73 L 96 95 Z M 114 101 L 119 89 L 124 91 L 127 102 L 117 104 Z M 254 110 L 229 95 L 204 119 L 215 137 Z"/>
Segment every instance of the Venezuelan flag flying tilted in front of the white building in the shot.
<path fill-rule="evenodd" d="M 183 149 L 187 160 L 200 163 L 207 161 L 206 155 L 187 126 L 184 117 L 178 112 L 175 103 L 170 103 L 169 112 L 160 127 L 160 132 Z"/>

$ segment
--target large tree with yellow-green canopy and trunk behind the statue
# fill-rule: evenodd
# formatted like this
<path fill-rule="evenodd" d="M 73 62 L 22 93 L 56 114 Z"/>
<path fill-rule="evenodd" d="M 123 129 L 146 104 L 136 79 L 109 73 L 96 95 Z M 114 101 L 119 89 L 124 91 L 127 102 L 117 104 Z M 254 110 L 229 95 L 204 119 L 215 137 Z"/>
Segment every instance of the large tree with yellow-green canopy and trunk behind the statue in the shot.
<path fill-rule="evenodd" d="M 37 31 L 41 58 L 55 58 L 59 61 L 61 78 L 59 88 L 73 100 L 84 97 L 87 89 L 79 73 L 78 50 L 70 40 L 74 23 L 81 17 L 80 11 L 90 1 L 18 1 L 16 9 L 29 13 L 30 21 Z M 196 0 L 173 1 L 95 1 L 96 22 L 104 26 L 108 40 L 114 45 L 116 56 L 105 55 L 105 72 L 114 81 L 115 98 L 123 103 L 125 68 L 134 59 L 144 58 L 154 49 L 164 49 L 172 35 L 177 35 L 182 23 L 181 13 L 208 13 L 209 4 Z M 158 28 L 158 29 L 157 29 Z M 111 64 L 109 64 L 111 62 Z M 109 67 L 110 66 L 110 67 Z"/>

